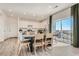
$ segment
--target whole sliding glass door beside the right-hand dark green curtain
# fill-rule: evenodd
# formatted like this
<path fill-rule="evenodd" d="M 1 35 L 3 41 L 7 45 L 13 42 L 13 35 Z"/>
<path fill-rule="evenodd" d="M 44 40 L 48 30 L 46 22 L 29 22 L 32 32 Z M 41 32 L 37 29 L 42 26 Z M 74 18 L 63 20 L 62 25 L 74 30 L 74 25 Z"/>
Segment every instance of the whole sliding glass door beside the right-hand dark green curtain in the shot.
<path fill-rule="evenodd" d="M 54 33 L 56 40 L 71 44 L 71 40 L 72 40 L 71 17 L 56 20 L 54 23 L 54 28 L 55 28 Z"/>

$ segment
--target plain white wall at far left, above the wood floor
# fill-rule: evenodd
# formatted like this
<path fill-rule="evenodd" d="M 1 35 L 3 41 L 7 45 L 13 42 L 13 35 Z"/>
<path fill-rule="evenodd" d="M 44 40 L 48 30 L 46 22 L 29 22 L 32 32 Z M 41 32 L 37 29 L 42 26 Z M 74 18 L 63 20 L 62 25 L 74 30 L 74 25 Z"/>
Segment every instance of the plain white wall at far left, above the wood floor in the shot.
<path fill-rule="evenodd" d="M 16 18 L 7 17 L 6 14 L 0 11 L 0 41 L 10 37 L 17 37 L 18 21 Z"/>

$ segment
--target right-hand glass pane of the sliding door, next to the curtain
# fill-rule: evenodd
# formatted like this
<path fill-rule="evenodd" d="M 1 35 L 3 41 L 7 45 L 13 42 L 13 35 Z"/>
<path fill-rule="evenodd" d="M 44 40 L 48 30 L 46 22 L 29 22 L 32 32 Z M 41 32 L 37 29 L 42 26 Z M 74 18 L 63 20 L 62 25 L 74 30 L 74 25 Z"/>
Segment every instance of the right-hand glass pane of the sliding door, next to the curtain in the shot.
<path fill-rule="evenodd" d="M 62 38 L 66 43 L 71 42 L 71 32 L 72 32 L 72 20 L 71 18 L 66 18 L 62 20 Z"/>

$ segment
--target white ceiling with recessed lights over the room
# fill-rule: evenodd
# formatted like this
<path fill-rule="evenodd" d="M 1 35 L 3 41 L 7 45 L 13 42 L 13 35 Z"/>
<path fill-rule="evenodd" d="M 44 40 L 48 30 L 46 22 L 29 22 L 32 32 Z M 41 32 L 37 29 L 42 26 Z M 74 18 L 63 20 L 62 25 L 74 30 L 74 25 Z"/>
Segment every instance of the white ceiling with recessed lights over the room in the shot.
<path fill-rule="evenodd" d="M 49 15 L 74 5 L 73 3 L 0 3 L 7 16 L 41 21 Z"/>

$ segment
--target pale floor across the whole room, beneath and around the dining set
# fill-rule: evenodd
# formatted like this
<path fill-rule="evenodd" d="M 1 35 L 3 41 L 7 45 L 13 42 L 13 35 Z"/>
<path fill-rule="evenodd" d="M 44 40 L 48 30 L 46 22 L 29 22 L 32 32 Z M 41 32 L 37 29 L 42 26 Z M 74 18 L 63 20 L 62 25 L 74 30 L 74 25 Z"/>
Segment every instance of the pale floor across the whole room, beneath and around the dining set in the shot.
<path fill-rule="evenodd" d="M 7 39 L 0 42 L 0 56 L 17 56 L 17 38 Z M 21 56 L 75 56 L 79 55 L 79 48 L 74 48 L 69 44 L 54 42 L 52 49 L 46 51 L 37 51 L 37 54 L 26 53 L 26 49 L 22 49 Z"/>

